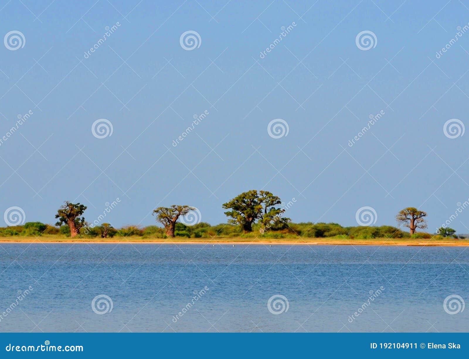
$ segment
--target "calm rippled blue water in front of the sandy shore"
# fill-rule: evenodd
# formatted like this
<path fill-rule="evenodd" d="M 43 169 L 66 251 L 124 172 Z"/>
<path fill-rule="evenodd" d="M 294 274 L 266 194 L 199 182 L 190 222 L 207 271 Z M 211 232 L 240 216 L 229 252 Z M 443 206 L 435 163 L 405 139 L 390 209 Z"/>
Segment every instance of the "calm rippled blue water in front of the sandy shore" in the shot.
<path fill-rule="evenodd" d="M 0 313 L 33 289 L 0 331 L 467 332 L 469 309 L 443 301 L 468 301 L 468 271 L 464 247 L 1 244 Z M 113 309 L 98 315 L 101 294 Z"/>

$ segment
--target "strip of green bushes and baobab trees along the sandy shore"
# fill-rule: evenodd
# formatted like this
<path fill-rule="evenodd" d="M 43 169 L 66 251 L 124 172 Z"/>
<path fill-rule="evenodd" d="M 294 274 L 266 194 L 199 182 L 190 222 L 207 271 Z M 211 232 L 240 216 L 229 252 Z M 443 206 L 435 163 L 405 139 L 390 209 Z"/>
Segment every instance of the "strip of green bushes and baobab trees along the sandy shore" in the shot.
<path fill-rule="evenodd" d="M 281 204 L 279 207 L 278 205 Z M 142 239 L 151 238 L 258 238 L 258 239 L 290 239 L 290 238 L 336 238 L 336 239 L 374 239 L 374 238 L 411 238 L 411 239 L 443 239 L 458 238 L 455 231 L 448 227 L 441 227 L 436 234 L 416 230 L 427 227 L 424 217 L 426 212 L 413 207 L 402 209 L 396 215 L 399 226 L 409 228 L 404 232 L 398 227 L 382 226 L 351 226 L 343 227 L 337 223 L 293 223 L 284 217 L 285 205 L 278 196 L 268 191 L 251 190 L 239 194 L 222 206 L 227 209 L 225 214 L 227 224 L 211 225 L 205 222 L 187 224 L 181 223 L 180 218 L 198 211 L 187 205 L 172 205 L 159 207 L 153 211 L 156 221 L 163 228 L 156 225 L 141 227 L 128 225 L 114 228 L 110 223 L 89 224 L 83 217 L 86 206 L 80 203 L 66 201 L 57 211 L 54 225 L 41 222 L 28 222 L 23 225 L 0 227 L 0 237 L 9 236 L 54 236 L 91 238 L 113 238 L 139 236 Z M 96 222 L 96 221 L 95 221 Z M 464 238 L 460 236 L 459 238 Z"/>

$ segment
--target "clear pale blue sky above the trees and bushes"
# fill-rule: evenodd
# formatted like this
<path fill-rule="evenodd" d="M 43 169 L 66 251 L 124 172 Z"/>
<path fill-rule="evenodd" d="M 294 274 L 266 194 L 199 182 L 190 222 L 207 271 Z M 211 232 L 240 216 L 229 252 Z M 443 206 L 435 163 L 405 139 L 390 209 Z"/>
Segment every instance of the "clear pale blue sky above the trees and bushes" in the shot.
<path fill-rule="evenodd" d="M 469 123 L 469 31 L 456 36 L 469 22 L 467 1 L 0 8 L 1 36 L 24 37 L 0 46 L 0 135 L 32 112 L 0 146 L 0 214 L 18 206 L 26 221 L 54 223 L 70 200 L 88 206 L 91 222 L 119 198 L 106 217 L 114 226 L 154 224 L 152 209 L 171 204 L 217 224 L 227 219 L 222 203 L 265 189 L 295 198 L 295 222 L 356 225 L 370 206 L 376 225 L 395 225 L 412 206 L 428 212 L 434 232 L 469 198 L 469 134 L 443 130 L 451 119 Z M 181 45 L 186 31 L 200 37 L 193 48 Z M 371 46 L 357 45 L 362 31 L 374 34 Z M 112 135 L 93 135 L 99 119 Z M 276 119 L 286 136 L 269 135 Z M 469 209 L 450 226 L 469 232 Z"/>

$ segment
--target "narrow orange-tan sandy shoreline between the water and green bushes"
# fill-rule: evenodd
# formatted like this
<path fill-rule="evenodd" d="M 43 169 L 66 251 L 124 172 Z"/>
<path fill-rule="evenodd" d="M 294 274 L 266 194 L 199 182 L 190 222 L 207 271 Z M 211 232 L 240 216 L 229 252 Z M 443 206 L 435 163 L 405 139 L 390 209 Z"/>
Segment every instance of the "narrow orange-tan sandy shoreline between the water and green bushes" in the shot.
<path fill-rule="evenodd" d="M 396 246 L 396 247 L 469 247 L 469 240 L 410 240 L 410 239 L 262 239 L 262 240 L 242 240 L 242 239 L 213 239 L 213 240 L 168 240 L 168 239 L 0 239 L 0 244 L 32 244 L 32 243 L 51 243 L 51 244 L 166 244 L 166 245 L 290 245 L 290 246 Z"/>

